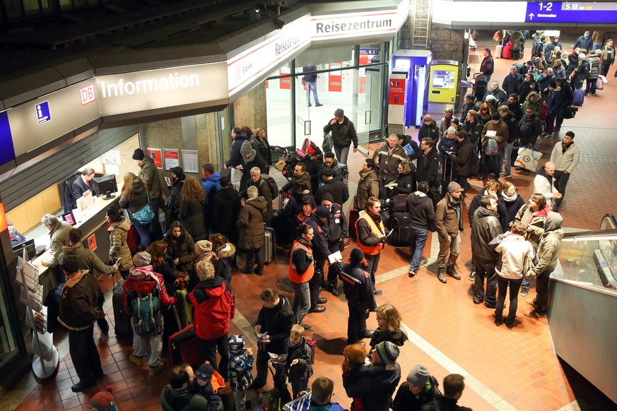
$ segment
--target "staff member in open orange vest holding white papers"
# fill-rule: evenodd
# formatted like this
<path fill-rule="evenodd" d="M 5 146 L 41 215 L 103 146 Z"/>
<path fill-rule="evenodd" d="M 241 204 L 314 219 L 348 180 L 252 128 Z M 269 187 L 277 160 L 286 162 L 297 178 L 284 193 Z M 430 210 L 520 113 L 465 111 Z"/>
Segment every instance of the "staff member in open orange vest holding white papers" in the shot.
<path fill-rule="evenodd" d="M 358 232 L 358 247 L 363 251 L 370 273 L 370 280 L 375 285 L 375 272 L 380 263 L 380 254 L 384 248 L 384 243 L 387 241 L 387 232 L 382 222 L 380 215 L 382 205 L 377 197 L 370 197 L 366 202 L 364 213 L 360 215 L 358 221 L 355 222 L 355 230 Z M 381 295 L 382 291 L 373 292 L 375 295 Z"/>

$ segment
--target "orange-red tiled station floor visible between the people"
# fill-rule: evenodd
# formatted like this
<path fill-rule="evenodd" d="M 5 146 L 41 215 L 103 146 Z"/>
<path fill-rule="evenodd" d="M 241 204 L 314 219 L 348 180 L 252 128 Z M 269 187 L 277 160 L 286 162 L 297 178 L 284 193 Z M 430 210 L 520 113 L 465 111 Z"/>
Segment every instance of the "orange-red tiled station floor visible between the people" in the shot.
<path fill-rule="evenodd" d="M 576 36 L 562 39 L 566 48 Z M 488 37 L 478 43 L 478 50 L 495 47 Z M 528 54 L 529 47 L 527 57 Z M 480 52 L 472 53 L 472 72 L 478 71 L 480 60 Z M 497 68 L 493 78 L 501 81 L 512 61 L 495 59 L 495 63 Z M 617 145 L 613 143 L 611 123 L 614 108 L 617 107 L 616 92 L 617 81 L 609 81 L 597 97 L 587 97 L 576 119 L 565 121 L 562 128 L 560 137 L 568 130 L 576 133 L 575 144 L 582 152 L 580 164 L 572 174 L 566 200 L 560 209 L 565 227 L 595 229 L 604 213 L 615 210 L 613 203 L 617 196 L 609 185 L 617 179 Z M 435 117 L 440 119 L 441 116 L 437 114 Z M 415 132 L 409 131 L 410 134 Z M 538 142 L 538 148 L 544 153 L 541 162 L 546 161 L 556 143 L 557 138 Z M 371 145 L 369 148 L 372 151 L 375 147 Z M 351 154 L 353 181 L 357 181 L 361 163 L 360 153 Z M 516 184 L 526 200 L 531 194 L 532 178 L 533 174 L 524 175 L 512 170 L 510 181 Z M 471 180 L 470 184 L 472 188 L 466 198 L 467 204 L 478 192 L 481 181 Z M 351 191 L 355 190 L 355 184 L 350 185 Z M 465 226 L 469 227 L 467 222 Z M 469 270 L 466 268 L 471 260 L 469 230 L 462 235 L 463 248 L 458 269 L 463 279 L 455 281 L 449 278 L 445 285 L 437 281 L 435 266 L 432 265 L 421 268 L 415 278 L 408 278 L 407 249 L 387 247 L 382 252 L 377 281 L 383 295 L 377 297 L 377 303 L 392 303 L 398 307 L 408 328 L 410 341 L 402 347 L 399 357 L 403 375 L 418 363 L 428 367 L 440 381 L 452 372 L 463 374 L 466 389 L 460 403 L 474 410 L 616 409 L 617 405 L 556 357 L 546 319 L 534 320 L 522 315 L 527 305 L 525 297 L 519 298 L 519 316 L 513 330 L 505 326 L 496 328 L 493 325 L 493 311 L 472 303 L 472 283 L 467 280 Z M 428 244 L 431 244 L 431 239 Z M 345 250 L 346 256 L 349 251 L 349 248 Z M 434 261 L 434 257 L 435 252 L 431 253 L 430 246 L 427 246 L 425 258 L 428 258 L 428 263 Z M 266 269 L 263 277 L 233 273 L 237 315 L 230 333 L 247 333 L 254 340 L 250 324 L 257 318 L 259 293 L 265 287 L 276 287 L 291 297 L 286 273 L 287 262 L 283 251 L 278 252 L 276 261 Z M 110 281 L 107 280 L 102 286 L 104 290 L 108 289 Z M 533 294 L 532 290 L 530 296 Z M 313 326 L 307 335 L 317 340 L 315 376 L 334 379 L 334 398 L 349 407 L 350 401 L 341 384 L 346 302 L 342 294 L 334 297 L 323 292 L 322 295 L 329 299 L 327 311 L 309 314 L 306 318 L 306 322 Z M 107 310 L 107 315 L 113 321 L 112 309 Z M 377 326 L 374 316 L 368 323 L 370 328 Z M 26 392 L 17 410 L 88 410 L 91 396 L 107 384 L 114 386 L 120 408 L 124 411 L 160 409 L 158 398 L 169 369 L 149 377 L 146 367 L 134 367 L 128 361 L 131 342 L 115 338 L 113 328 L 108 337 L 96 334 L 95 340 L 106 374 L 98 381 L 98 387 L 84 393 L 73 393 L 71 386 L 77 379 L 71 358 L 66 355 L 56 376 L 36 385 L 30 393 Z M 19 388 L 23 390 L 20 386 L 16 390 Z"/>

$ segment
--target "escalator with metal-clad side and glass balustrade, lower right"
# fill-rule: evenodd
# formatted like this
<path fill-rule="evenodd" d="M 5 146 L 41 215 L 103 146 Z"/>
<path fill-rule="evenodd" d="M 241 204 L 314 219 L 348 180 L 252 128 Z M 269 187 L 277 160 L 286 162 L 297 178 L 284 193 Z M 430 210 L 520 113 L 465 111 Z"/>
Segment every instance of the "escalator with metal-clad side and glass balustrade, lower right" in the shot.
<path fill-rule="evenodd" d="M 556 354 L 617 403 L 617 220 L 564 234 L 551 275 L 548 323 Z"/>

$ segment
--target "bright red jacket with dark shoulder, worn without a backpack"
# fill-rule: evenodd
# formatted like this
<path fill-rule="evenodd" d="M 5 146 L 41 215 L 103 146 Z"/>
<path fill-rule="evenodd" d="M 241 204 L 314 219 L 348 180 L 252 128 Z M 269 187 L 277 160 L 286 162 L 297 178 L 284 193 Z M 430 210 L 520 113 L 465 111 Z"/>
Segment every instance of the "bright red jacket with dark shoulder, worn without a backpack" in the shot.
<path fill-rule="evenodd" d="M 199 282 L 188 296 L 195 307 L 195 335 L 202 340 L 214 340 L 229 332 L 235 316 L 235 302 L 229 282 L 221 277 Z"/>

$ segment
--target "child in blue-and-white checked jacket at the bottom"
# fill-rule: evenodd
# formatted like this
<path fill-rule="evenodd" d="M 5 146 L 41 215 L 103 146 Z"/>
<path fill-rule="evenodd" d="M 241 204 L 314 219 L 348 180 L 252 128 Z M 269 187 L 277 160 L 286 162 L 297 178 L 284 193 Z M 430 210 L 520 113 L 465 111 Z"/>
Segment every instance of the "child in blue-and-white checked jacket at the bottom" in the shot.
<path fill-rule="evenodd" d="M 245 349 L 245 336 L 232 335 L 229 338 L 229 384 L 233 391 L 235 410 L 245 411 L 246 390 L 253 382 L 253 350 Z"/>

